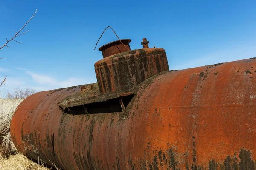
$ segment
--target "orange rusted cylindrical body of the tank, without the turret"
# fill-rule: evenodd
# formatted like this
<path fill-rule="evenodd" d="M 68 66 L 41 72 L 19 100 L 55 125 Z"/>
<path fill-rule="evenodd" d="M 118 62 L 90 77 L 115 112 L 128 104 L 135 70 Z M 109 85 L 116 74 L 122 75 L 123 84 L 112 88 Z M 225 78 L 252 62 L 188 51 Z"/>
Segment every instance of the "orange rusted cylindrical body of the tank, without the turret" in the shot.
<path fill-rule="evenodd" d="M 39 152 L 63 169 L 213 170 L 234 155 L 238 169 L 252 168 L 256 73 L 246 71 L 255 65 L 249 59 L 159 74 L 137 87 L 127 116 L 64 114 L 57 103 L 80 87 L 40 92 L 15 112 L 12 140 L 21 152 L 23 142 L 36 148 L 25 149 L 29 157 Z"/>

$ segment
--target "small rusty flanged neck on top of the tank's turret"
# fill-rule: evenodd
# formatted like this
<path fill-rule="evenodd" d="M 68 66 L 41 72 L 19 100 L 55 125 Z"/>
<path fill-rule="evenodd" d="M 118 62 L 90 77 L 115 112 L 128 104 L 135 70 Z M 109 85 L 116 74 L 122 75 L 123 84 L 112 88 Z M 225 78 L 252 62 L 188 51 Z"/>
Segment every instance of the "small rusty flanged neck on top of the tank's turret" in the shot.
<path fill-rule="evenodd" d="M 99 51 L 102 51 L 103 58 L 112 56 L 114 54 L 119 54 L 125 51 L 131 51 L 129 43 L 130 39 L 122 39 L 110 42 L 99 48 Z"/>

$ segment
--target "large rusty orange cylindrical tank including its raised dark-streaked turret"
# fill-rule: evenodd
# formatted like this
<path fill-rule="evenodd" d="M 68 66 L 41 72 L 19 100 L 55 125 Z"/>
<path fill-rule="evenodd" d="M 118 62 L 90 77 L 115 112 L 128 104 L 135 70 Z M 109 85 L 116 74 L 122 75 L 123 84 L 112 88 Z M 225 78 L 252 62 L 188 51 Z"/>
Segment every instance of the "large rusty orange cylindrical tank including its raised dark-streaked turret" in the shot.
<path fill-rule="evenodd" d="M 25 99 L 17 150 L 63 170 L 255 170 L 256 59 L 169 71 L 147 43 L 96 62 L 98 83 Z"/>

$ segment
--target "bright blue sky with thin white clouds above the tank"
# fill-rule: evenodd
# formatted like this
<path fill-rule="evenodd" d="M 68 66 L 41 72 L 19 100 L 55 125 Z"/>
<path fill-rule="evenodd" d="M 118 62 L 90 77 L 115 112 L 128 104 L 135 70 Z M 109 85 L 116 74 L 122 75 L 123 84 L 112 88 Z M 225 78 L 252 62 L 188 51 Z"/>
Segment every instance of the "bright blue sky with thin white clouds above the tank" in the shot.
<path fill-rule="evenodd" d="M 20 86 L 44 91 L 96 82 L 97 49 L 131 39 L 131 49 L 149 46 L 166 50 L 169 69 L 185 69 L 256 57 L 256 1 L 166 0 L 0 0 L 0 46 L 35 10 L 27 34 L 0 50 L 0 91 Z"/>

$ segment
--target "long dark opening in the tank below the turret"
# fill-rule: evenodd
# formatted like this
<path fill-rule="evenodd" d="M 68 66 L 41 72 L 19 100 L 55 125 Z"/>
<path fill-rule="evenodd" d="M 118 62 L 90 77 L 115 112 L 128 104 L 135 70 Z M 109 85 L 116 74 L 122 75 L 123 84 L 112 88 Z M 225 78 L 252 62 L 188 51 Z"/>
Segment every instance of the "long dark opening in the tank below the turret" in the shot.
<path fill-rule="evenodd" d="M 128 96 L 117 97 L 102 102 L 73 106 L 65 108 L 64 112 L 73 115 L 126 112 L 125 109 L 134 95 L 135 94 L 130 94 Z"/>

